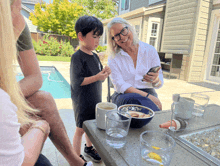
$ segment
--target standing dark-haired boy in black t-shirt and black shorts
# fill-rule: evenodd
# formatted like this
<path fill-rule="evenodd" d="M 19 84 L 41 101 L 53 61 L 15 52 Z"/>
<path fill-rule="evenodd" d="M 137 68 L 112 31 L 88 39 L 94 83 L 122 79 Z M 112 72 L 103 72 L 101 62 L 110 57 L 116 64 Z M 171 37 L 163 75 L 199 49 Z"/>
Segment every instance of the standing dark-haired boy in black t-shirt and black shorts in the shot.
<path fill-rule="evenodd" d="M 76 120 L 73 148 L 84 159 L 80 153 L 84 134 L 82 125 L 86 120 L 95 119 L 95 106 L 102 98 L 102 81 L 109 76 L 111 70 L 108 66 L 103 69 L 99 57 L 92 52 L 98 47 L 103 33 L 101 21 L 93 16 L 82 16 L 76 22 L 75 31 L 80 49 L 72 55 L 70 65 L 71 98 Z M 94 162 L 100 162 L 101 158 L 86 134 L 85 138 L 85 156 Z"/>

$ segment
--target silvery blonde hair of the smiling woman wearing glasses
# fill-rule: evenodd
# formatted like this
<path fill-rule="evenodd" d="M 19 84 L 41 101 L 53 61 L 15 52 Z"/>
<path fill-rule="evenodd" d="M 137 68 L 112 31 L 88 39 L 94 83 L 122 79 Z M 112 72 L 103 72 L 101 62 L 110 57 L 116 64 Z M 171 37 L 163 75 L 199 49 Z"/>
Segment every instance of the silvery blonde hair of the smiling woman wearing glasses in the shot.
<path fill-rule="evenodd" d="M 127 26 L 128 29 L 131 31 L 131 33 L 133 34 L 133 44 L 138 44 L 139 43 L 139 39 L 137 36 L 137 33 L 135 31 L 135 29 L 133 28 L 133 26 L 131 24 L 128 23 L 128 21 L 126 21 L 123 18 L 120 17 L 116 17 L 113 18 L 108 24 L 107 24 L 107 54 L 115 57 L 115 54 L 118 53 L 120 51 L 120 47 L 115 43 L 114 40 L 112 40 L 112 36 L 110 34 L 110 29 L 114 24 L 123 24 L 124 26 Z"/>

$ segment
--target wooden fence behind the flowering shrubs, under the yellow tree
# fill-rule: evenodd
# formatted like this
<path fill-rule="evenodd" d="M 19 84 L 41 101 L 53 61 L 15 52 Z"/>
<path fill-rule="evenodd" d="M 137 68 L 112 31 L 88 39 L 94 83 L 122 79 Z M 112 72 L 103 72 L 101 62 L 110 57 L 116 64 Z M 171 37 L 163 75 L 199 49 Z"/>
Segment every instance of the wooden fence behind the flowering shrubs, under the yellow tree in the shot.
<path fill-rule="evenodd" d="M 32 39 L 34 39 L 36 42 L 38 42 L 39 40 L 43 40 L 44 35 L 46 35 L 46 33 L 37 33 L 37 32 L 31 32 L 31 37 Z M 77 39 L 72 39 L 69 36 L 64 36 L 64 35 L 57 35 L 57 34 L 50 34 L 50 37 L 54 37 L 56 38 L 58 41 L 69 41 L 70 44 L 76 48 L 79 45 L 79 42 Z"/>

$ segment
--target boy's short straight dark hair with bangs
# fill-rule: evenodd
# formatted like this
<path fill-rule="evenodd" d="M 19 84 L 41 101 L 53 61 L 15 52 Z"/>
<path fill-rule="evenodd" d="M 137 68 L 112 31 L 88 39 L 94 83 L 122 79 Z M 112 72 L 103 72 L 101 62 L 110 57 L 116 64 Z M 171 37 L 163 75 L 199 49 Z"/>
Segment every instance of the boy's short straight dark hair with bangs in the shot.
<path fill-rule="evenodd" d="M 79 32 L 83 36 L 86 36 L 87 33 L 94 30 L 94 35 L 102 36 L 103 34 L 103 24 L 102 22 L 93 16 L 82 16 L 80 17 L 75 24 L 76 34 Z"/>

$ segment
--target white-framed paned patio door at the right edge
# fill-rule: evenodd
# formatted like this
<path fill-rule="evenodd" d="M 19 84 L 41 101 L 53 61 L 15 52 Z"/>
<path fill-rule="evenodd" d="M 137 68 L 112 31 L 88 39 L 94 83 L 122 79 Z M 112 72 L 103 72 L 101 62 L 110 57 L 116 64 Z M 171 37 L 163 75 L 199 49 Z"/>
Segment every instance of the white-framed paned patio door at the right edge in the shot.
<path fill-rule="evenodd" d="M 207 79 L 220 82 L 220 18 L 215 18 L 211 40 Z"/>

